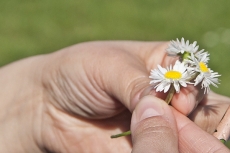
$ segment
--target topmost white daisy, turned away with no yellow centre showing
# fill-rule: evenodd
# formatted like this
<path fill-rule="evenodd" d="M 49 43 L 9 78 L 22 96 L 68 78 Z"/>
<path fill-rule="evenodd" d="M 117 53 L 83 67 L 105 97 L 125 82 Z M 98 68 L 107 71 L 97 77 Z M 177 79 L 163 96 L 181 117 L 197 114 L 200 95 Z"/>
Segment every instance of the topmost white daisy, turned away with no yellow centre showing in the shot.
<path fill-rule="evenodd" d="M 169 47 L 166 49 L 167 53 L 171 56 L 176 56 L 178 54 L 184 54 L 185 52 L 188 53 L 195 53 L 199 46 L 196 46 L 196 41 L 194 41 L 192 44 L 189 44 L 189 41 L 187 40 L 185 42 L 184 38 L 181 39 L 181 42 L 179 39 L 177 41 L 170 41 Z"/>

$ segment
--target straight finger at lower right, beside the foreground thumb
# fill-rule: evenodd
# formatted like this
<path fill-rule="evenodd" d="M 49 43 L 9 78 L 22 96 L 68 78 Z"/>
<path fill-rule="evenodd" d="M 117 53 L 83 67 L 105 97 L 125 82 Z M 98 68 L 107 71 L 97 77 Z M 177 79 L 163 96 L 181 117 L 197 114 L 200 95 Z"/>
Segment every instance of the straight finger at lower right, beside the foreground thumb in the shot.
<path fill-rule="evenodd" d="M 178 111 L 173 111 L 178 128 L 180 152 L 230 152 L 220 140 L 199 128 Z"/>

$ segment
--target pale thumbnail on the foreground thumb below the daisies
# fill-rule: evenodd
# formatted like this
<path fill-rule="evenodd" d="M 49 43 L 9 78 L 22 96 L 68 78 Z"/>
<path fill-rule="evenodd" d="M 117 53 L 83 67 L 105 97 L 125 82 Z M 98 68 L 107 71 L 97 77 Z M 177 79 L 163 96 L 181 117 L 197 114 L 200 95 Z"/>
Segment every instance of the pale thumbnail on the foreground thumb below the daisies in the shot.
<path fill-rule="evenodd" d="M 163 103 L 163 100 L 151 95 L 143 97 L 136 108 L 136 121 L 140 122 L 149 117 L 163 115 Z"/>

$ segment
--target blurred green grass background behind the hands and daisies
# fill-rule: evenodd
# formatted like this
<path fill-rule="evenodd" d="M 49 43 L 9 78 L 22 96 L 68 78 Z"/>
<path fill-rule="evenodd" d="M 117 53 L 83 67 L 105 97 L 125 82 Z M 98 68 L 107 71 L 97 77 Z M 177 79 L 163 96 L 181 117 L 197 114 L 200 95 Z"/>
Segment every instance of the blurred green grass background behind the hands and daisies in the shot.
<path fill-rule="evenodd" d="M 0 66 L 93 40 L 198 41 L 230 96 L 229 0 L 1 0 Z"/>

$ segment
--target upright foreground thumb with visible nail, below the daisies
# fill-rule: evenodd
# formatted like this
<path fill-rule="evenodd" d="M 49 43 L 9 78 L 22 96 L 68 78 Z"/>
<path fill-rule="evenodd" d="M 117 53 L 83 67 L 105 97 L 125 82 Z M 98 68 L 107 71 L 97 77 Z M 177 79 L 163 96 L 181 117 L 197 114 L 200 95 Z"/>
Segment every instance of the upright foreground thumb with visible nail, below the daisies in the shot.
<path fill-rule="evenodd" d="M 133 153 L 178 152 L 176 121 L 161 99 L 145 96 L 134 109 L 131 121 Z"/>

